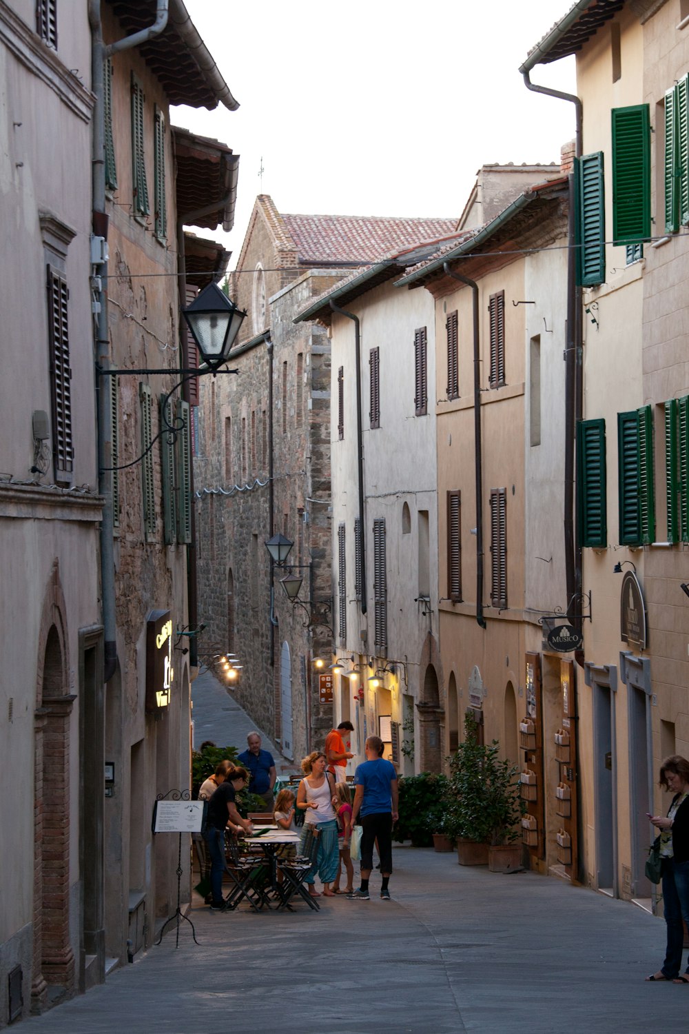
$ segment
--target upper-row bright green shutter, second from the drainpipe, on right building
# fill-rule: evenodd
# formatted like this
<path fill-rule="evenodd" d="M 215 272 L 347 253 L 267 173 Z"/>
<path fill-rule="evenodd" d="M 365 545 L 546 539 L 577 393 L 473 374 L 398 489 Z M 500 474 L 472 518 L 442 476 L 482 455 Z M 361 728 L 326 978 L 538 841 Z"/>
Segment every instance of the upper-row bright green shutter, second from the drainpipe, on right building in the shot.
<path fill-rule="evenodd" d="M 651 236 L 651 122 L 648 104 L 614 108 L 613 240 Z"/>

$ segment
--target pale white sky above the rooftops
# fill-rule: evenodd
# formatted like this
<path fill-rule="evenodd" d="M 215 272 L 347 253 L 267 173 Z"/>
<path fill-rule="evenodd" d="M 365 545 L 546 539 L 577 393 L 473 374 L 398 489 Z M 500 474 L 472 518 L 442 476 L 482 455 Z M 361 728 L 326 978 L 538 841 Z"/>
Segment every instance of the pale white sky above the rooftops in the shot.
<path fill-rule="evenodd" d="M 241 105 L 173 112 L 241 155 L 233 230 L 201 231 L 230 269 L 258 193 L 281 212 L 457 217 L 480 165 L 558 162 L 573 136 L 573 105 L 519 72 L 572 0 L 185 3 Z M 531 79 L 574 92 L 573 58 Z"/>

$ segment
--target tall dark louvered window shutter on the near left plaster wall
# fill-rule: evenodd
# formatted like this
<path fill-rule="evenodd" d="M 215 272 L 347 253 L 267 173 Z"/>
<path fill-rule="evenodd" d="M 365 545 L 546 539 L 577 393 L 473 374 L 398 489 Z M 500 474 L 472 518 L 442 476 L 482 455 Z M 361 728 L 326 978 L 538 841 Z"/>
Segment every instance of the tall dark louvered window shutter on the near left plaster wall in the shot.
<path fill-rule="evenodd" d="M 48 266 L 48 322 L 50 334 L 51 396 L 53 405 L 53 459 L 58 484 L 71 483 L 74 447 L 71 426 L 71 366 L 65 277 Z"/>

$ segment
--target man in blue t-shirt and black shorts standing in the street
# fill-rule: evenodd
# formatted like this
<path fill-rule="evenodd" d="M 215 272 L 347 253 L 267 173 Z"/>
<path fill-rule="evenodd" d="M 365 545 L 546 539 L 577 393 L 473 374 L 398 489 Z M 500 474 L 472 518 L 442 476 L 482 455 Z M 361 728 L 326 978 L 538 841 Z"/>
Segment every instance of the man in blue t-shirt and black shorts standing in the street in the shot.
<path fill-rule="evenodd" d="M 366 741 L 367 760 L 354 772 L 354 803 L 352 828 L 357 817 L 362 820 L 362 885 L 347 894 L 350 901 L 369 899 L 369 877 L 373 869 L 373 845 L 378 842 L 380 875 L 383 878 L 380 896 L 390 900 L 387 884 L 393 872 L 393 823 L 398 818 L 397 769 L 382 757 L 383 741 L 369 736 Z"/>

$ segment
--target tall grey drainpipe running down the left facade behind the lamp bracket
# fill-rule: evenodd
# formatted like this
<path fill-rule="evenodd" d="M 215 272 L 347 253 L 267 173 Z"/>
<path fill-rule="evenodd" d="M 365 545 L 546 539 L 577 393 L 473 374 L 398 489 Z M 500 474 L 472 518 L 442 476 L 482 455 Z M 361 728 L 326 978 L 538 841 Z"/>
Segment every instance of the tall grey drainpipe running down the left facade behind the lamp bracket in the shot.
<path fill-rule="evenodd" d="M 107 237 L 107 216 L 105 214 L 105 103 L 103 65 L 105 58 L 118 51 L 136 47 L 152 36 L 162 32 L 167 24 L 168 0 L 158 0 L 155 23 L 148 29 L 126 36 L 117 43 L 105 45 L 100 21 L 100 0 L 89 0 L 89 25 L 91 26 L 91 89 L 95 96 L 93 110 L 93 138 L 91 156 L 92 223 L 97 237 Z M 100 306 L 96 321 L 95 358 L 101 369 L 111 364 L 109 333 L 107 326 L 107 263 L 96 266 L 96 276 L 100 277 L 100 287 L 93 292 Z M 113 465 L 111 440 L 111 414 L 108 392 L 101 387 L 101 377 L 96 373 L 96 435 L 98 457 L 98 491 L 104 499 L 100 521 L 100 595 L 103 621 L 103 682 L 108 682 L 117 670 L 117 625 L 115 605 L 115 552 L 113 546 L 113 472 L 104 469 Z"/>

